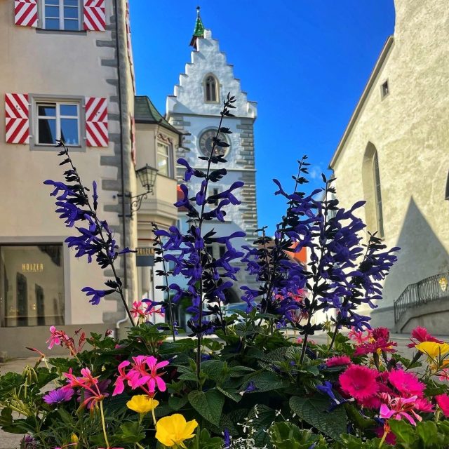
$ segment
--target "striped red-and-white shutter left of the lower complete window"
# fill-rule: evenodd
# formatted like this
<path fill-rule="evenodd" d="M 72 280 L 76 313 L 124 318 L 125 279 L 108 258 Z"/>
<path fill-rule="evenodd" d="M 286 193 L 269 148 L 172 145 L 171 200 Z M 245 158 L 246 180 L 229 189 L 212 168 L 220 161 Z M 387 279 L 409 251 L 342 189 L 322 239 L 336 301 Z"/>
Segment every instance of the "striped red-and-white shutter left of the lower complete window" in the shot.
<path fill-rule="evenodd" d="M 25 93 L 5 94 L 6 143 L 29 143 L 29 102 Z"/>

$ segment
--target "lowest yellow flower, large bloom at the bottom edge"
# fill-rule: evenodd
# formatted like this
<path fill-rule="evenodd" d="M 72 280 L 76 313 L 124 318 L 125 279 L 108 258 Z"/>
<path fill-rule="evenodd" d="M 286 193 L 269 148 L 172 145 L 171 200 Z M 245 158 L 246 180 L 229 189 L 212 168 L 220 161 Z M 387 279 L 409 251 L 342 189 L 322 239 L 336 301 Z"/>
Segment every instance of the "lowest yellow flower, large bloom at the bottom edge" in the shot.
<path fill-rule="evenodd" d="M 186 422 L 179 413 L 161 418 L 156 424 L 156 439 L 159 443 L 171 447 L 180 445 L 185 448 L 184 440 L 193 438 L 194 429 L 198 426 L 196 420 Z"/>

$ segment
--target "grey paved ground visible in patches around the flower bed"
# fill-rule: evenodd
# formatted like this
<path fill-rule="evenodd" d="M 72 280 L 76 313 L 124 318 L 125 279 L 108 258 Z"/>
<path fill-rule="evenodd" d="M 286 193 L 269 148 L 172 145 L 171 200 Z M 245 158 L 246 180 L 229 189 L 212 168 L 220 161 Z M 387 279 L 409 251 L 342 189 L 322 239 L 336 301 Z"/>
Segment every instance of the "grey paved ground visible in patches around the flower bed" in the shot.
<path fill-rule="evenodd" d="M 447 340 L 448 337 L 441 337 L 442 340 Z M 317 343 L 324 343 L 327 340 L 326 335 L 314 335 L 312 340 Z M 398 343 L 398 351 L 408 358 L 413 356 L 413 349 L 407 347 L 409 340 L 408 334 L 393 334 L 391 335 L 391 340 Z M 13 361 L 8 361 L 6 363 L 0 363 L 0 374 L 8 373 L 8 371 L 14 371 L 15 373 L 20 373 L 23 368 L 27 365 L 34 365 L 36 363 L 36 357 L 33 358 L 16 358 Z M 16 449 L 20 446 L 20 439 L 22 436 L 6 434 L 0 430 L 0 449 Z"/>

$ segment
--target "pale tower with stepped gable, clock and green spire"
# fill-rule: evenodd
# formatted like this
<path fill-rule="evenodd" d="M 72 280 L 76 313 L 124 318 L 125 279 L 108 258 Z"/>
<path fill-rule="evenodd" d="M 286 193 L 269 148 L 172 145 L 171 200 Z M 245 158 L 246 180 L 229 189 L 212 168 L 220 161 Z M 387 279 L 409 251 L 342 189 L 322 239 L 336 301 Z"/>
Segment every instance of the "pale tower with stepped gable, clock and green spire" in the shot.
<path fill-rule="evenodd" d="M 233 109 L 232 113 L 235 116 L 226 117 L 222 124 L 230 128 L 233 134 L 220 135 L 222 140 L 225 139 L 229 143 L 224 155 L 227 159 L 224 167 L 228 174 L 210 188 L 221 192 L 237 180 L 243 181 L 245 185 L 239 192 L 241 204 L 227 210 L 225 223 L 218 220 L 208 222 L 208 227 L 214 228 L 222 235 L 242 230 L 246 232 L 247 237 L 239 242 L 234 240 L 235 246 L 251 244 L 257 229 L 253 132 L 257 105 L 248 101 L 246 92 L 241 90 L 240 81 L 234 76 L 233 66 L 227 63 L 226 55 L 220 51 L 217 39 L 213 39 L 212 32 L 204 28 L 199 8 L 190 45 L 194 47 L 192 62 L 185 66 L 185 73 L 180 74 L 180 82 L 175 86 L 173 95 L 168 96 L 166 105 L 168 122 L 186 134 L 177 156 L 186 159 L 194 168 L 206 169 L 206 161 L 201 161 L 198 156 L 210 154 L 212 138 L 220 121 L 223 99 L 228 92 L 234 95 L 236 109 Z M 179 180 L 183 174 L 184 167 L 177 168 Z M 199 182 L 198 185 L 189 184 L 191 192 L 197 192 L 199 187 Z M 220 255 L 220 248 L 211 250 L 214 256 Z M 245 278 L 246 274 L 241 270 L 239 281 L 245 283 Z M 235 293 L 240 296 L 238 289 Z M 236 298 L 230 300 L 236 302 Z"/>

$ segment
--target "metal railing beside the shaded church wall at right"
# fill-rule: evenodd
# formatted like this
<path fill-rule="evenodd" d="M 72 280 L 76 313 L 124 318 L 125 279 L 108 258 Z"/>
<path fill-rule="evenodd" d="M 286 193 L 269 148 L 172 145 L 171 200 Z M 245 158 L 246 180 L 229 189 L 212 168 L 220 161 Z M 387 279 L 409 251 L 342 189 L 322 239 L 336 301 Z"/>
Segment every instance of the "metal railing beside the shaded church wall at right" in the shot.
<path fill-rule="evenodd" d="M 410 283 L 394 301 L 394 323 L 396 324 L 410 307 L 441 299 L 449 299 L 449 272 L 434 274 L 422 281 Z"/>

